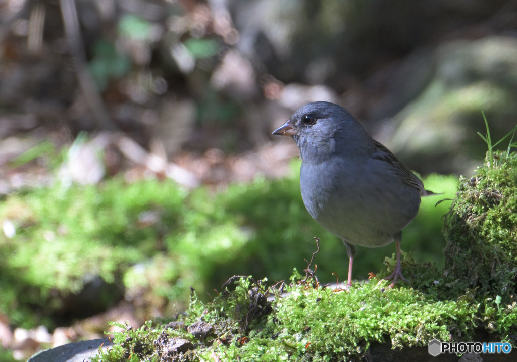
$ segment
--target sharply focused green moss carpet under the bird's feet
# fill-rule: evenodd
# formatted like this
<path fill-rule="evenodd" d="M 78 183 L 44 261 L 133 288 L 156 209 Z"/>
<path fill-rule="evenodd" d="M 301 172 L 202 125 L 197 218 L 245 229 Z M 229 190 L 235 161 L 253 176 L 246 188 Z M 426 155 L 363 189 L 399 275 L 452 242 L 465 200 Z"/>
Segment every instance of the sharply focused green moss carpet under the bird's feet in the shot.
<path fill-rule="evenodd" d="M 148 323 L 141 337 L 126 328 L 115 334 L 114 348 L 94 360 L 125 360 L 138 346 L 142 350 L 142 343 L 154 346 L 146 349 L 151 361 L 210 361 L 214 356 L 229 361 L 361 360 L 373 342 L 400 349 L 425 346 L 433 338 L 471 341 L 483 318 L 479 305 L 468 298 L 437 300 L 412 288 L 385 290 L 387 282 L 374 279 L 350 291 L 300 279 L 295 274 L 290 285 L 268 289 L 264 281 L 242 278 L 211 303 L 193 295 L 178 321 Z M 514 310 L 504 314 L 507 319 L 516 315 Z M 196 337 L 191 333 L 196 323 L 209 325 L 210 334 Z M 192 343 L 188 353 L 160 355 L 159 346 L 176 338 Z"/>

